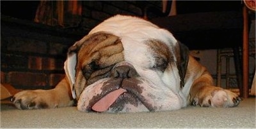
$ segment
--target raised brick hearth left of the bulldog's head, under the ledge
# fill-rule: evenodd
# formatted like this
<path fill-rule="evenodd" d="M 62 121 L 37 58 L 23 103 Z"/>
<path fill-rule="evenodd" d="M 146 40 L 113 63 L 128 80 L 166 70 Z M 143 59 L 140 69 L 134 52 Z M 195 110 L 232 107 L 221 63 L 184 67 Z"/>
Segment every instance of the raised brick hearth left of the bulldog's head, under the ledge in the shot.
<path fill-rule="evenodd" d="M 49 89 L 64 77 L 67 49 L 82 34 L 1 17 L 1 83 Z"/>

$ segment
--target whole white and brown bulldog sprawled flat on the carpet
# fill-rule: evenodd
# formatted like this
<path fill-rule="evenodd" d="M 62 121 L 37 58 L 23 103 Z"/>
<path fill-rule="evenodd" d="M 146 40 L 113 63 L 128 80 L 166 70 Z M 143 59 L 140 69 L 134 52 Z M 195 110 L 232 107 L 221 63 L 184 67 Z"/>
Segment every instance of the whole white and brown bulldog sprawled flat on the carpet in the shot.
<path fill-rule="evenodd" d="M 66 77 L 52 90 L 14 95 L 18 109 L 77 105 L 84 112 L 173 111 L 188 105 L 234 107 L 241 98 L 213 85 L 204 66 L 166 29 L 116 15 L 68 49 Z"/>

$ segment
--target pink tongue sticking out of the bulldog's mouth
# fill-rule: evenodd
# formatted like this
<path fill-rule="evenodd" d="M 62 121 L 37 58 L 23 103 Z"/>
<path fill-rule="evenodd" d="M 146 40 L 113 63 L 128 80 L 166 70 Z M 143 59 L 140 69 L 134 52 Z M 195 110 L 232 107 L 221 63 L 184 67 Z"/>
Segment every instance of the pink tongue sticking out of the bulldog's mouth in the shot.
<path fill-rule="evenodd" d="M 127 92 L 123 88 L 119 88 L 113 92 L 108 93 L 105 97 L 101 98 L 96 104 L 92 106 L 92 109 L 97 112 L 107 111 L 110 105 L 124 92 Z"/>

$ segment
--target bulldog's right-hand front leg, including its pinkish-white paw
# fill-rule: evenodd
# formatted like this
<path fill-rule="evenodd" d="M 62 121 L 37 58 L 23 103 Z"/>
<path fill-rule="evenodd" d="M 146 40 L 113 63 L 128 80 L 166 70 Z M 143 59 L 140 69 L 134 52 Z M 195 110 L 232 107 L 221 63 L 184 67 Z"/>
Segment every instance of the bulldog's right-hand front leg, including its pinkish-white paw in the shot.
<path fill-rule="evenodd" d="M 207 71 L 191 86 L 190 97 L 192 105 L 202 107 L 234 107 L 241 101 L 236 93 L 213 86 L 212 77 Z"/>

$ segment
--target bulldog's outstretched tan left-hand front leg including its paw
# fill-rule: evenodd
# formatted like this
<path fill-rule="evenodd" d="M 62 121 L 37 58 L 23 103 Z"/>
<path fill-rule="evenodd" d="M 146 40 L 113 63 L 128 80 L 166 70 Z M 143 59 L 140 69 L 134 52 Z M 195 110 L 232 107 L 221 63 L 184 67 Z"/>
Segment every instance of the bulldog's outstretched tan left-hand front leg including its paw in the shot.
<path fill-rule="evenodd" d="M 12 99 L 18 109 L 67 107 L 74 104 L 68 79 L 64 78 L 52 90 L 24 90 Z"/>

